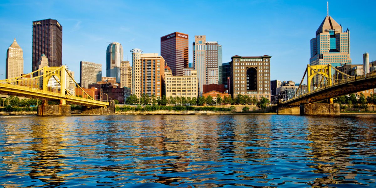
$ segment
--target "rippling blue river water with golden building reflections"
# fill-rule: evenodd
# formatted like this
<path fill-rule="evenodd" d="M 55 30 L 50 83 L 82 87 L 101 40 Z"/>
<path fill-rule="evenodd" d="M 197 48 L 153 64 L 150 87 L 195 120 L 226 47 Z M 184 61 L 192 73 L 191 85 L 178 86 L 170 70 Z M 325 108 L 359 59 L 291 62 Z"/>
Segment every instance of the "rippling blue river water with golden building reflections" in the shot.
<path fill-rule="evenodd" d="M 376 186 L 376 115 L 0 117 L 3 187 Z"/>

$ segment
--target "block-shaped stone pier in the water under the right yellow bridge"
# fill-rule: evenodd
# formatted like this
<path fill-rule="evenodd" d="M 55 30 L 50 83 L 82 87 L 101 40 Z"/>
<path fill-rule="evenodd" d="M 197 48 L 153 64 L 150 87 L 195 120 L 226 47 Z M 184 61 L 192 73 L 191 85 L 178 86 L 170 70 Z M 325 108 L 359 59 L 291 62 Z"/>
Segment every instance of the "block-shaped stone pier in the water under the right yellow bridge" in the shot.
<path fill-rule="evenodd" d="M 340 115 L 340 104 L 337 104 L 337 103 L 301 104 L 300 115 Z"/>

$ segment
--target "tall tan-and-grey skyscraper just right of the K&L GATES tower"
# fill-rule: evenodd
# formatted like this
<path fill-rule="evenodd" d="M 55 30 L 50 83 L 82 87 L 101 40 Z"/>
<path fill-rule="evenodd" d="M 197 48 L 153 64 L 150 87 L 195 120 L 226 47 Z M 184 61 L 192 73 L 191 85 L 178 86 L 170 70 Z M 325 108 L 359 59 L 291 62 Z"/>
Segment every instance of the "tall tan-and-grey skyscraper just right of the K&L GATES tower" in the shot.
<path fill-rule="evenodd" d="M 206 42 L 205 35 L 194 36 L 193 42 L 193 67 L 197 70 L 200 94 L 203 85 L 218 84 L 219 70 L 222 65 L 222 45 L 215 42 Z"/>

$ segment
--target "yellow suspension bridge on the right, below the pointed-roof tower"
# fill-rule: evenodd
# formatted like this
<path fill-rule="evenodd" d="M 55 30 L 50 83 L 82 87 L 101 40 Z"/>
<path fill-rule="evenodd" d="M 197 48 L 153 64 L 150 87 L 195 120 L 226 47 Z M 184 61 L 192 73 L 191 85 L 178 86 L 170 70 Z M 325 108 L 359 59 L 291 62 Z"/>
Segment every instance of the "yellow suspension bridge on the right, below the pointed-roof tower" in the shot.
<path fill-rule="evenodd" d="M 306 84 L 303 84 L 306 80 Z M 327 101 L 334 97 L 376 88 L 376 72 L 361 76 L 350 76 L 331 64 L 307 65 L 299 88 L 292 99 L 279 102 L 278 106 L 299 106 L 300 104 Z"/>

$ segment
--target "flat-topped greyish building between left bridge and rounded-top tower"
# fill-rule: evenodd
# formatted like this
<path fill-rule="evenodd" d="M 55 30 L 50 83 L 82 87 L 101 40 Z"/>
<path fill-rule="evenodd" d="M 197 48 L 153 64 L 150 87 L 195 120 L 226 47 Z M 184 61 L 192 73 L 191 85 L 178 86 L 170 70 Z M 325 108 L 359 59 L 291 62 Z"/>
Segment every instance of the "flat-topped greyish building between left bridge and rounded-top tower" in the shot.
<path fill-rule="evenodd" d="M 89 84 L 102 80 L 102 64 L 80 61 L 81 87 L 88 88 Z"/>

